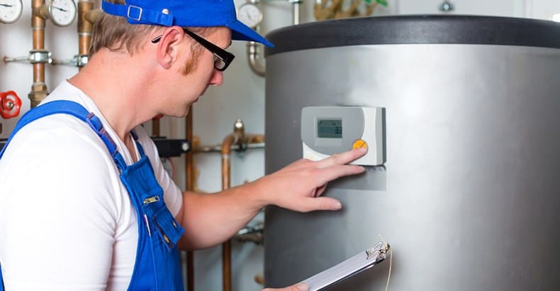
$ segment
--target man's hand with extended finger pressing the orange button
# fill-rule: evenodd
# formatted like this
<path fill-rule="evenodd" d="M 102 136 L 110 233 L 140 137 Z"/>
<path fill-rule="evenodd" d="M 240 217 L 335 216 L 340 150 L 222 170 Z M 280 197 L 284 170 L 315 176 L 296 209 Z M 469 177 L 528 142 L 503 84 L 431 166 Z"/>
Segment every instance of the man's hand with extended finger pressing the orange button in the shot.
<path fill-rule="evenodd" d="M 337 210 L 342 207 L 337 199 L 319 196 L 325 191 L 327 182 L 364 172 L 361 166 L 347 163 L 365 153 L 364 148 L 359 148 L 317 162 L 298 160 L 257 180 L 255 186 L 267 199 L 263 204 L 276 204 L 298 212 Z"/>

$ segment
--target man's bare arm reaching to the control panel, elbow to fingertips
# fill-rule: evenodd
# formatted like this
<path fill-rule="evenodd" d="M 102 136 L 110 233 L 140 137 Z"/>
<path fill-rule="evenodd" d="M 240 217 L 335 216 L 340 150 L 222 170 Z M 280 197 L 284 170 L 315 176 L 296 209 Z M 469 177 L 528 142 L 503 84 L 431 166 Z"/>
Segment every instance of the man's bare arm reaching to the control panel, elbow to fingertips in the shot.
<path fill-rule="evenodd" d="M 215 194 L 184 192 L 177 221 L 185 234 L 179 244 L 183 249 L 197 249 L 222 243 L 269 204 L 298 212 L 340 209 L 337 199 L 320 194 L 327 182 L 364 172 L 360 166 L 347 165 L 364 154 L 359 149 L 318 162 L 298 160 L 257 181 Z"/>

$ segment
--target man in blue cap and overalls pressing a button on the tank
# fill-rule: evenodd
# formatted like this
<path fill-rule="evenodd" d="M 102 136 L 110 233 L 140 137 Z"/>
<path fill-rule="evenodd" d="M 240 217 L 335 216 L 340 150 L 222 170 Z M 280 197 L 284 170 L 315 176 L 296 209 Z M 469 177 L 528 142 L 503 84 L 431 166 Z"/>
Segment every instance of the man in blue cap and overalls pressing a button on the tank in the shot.
<path fill-rule="evenodd" d="M 223 82 L 233 39 L 271 45 L 233 1 L 103 1 L 88 65 L 22 117 L 0 160 L 6 290 L 182 290 L 177 247 L 208 248 L 259 209 L 336 210 L 354 150 L 216 194 L 181 193 L 140 124 L 185 116 Z M 285 290 L 306 290 L 294 285 Z"/>

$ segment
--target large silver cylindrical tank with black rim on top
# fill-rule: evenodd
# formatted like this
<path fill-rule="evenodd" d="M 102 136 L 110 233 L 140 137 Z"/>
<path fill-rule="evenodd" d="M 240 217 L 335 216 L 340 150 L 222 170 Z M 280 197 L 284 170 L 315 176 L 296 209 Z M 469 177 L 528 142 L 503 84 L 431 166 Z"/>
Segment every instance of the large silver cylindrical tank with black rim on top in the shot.
<path fill-rule="evenodd" d="M 267 173 L 302 157 L 304 106 L 386 109 L 386 163 L 327 187 L 341 211 L 267 207 L 267 286 L 382 235 L 389 290 L 560 289 L 560 23 L 388 16 L 267 38 Z M 388 267 L 330 290 L 383 290 Z"/>

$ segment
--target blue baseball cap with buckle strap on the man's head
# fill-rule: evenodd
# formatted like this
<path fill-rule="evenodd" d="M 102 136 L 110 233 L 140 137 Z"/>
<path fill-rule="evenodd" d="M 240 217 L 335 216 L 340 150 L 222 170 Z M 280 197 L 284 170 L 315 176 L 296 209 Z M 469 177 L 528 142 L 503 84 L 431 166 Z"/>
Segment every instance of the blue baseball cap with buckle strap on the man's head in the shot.
<path fill-rule="evenodd" d="M 237 20 L 233 0 L 125 0 L 125 4 L 102 1 L 105 13 L 123 16 L 130 24 L 152 26 L 225 26 L 234 40 L 249 40 L 274 48 L 256 31 Z"/>

